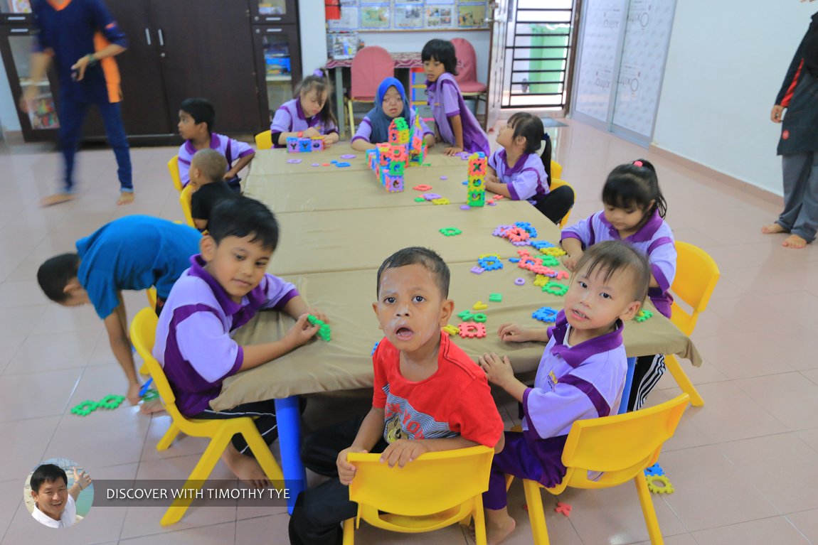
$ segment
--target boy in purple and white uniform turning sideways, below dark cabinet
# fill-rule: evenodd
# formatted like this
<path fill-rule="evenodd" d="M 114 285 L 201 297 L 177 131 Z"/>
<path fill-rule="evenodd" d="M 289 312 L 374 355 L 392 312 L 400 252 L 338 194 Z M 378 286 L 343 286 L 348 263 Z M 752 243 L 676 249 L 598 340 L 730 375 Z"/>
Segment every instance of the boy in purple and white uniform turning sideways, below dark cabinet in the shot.
<path fill-rule="evenodd" d="M 178 153 L 179 178 L 182 180 L 182 187 L 189 184 L 193 155 L 199 150 L 216 150 L 227 159 L 224 181 L 227 181 L 231 190 L 240 193 L 239 172 L 253 160 L 255 151 L 245 142 L 213 132 L 215 117 L 213 105 L 203 98 L 189 98 L 179 106 L 179 135 L 185 139 Z M 233 164 L 234 161 L 236 164 Z"/>

